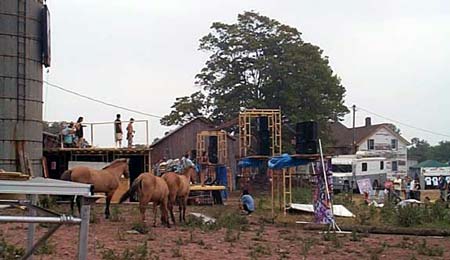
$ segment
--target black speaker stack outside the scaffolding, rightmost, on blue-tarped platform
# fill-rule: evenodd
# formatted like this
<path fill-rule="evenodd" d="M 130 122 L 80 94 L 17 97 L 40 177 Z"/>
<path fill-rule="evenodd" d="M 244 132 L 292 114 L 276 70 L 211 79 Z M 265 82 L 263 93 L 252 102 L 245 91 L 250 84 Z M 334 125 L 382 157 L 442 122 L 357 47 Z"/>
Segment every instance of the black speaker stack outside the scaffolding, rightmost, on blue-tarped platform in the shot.
<path fill-rule="evenodd" d="M 317 122 L 307 121 L 297 123 L 295 130 L 295 152 L 297 154 L 317 154 L 319 138 Z"/>

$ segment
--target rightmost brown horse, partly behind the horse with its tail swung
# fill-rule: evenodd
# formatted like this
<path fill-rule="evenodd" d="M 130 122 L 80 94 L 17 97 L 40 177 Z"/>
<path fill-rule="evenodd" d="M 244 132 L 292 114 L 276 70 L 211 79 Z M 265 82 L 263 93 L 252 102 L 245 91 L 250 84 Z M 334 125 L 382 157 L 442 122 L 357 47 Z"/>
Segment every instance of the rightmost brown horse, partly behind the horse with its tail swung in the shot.
<path fill-rule="evenodd" d="M 194 176 L 194 167 L 186 167 L 181 175 L 175 172 L 166 172 L 162 176 L 169 187 L 169 212 L 174 224 L 175 216 L 173 215 L 173 206 L 175 205 L 176 199 L 178 199 L 180 209 L 180 222 L 186 222 L 187 199 L 191 187 L 190 181 Z"/>

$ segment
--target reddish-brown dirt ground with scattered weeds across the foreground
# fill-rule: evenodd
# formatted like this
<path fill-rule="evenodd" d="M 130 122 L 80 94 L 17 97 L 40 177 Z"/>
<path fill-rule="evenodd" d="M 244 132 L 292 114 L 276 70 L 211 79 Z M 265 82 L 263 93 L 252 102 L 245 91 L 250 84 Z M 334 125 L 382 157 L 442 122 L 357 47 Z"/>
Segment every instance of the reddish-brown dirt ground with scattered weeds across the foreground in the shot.
<path fill-rule="evenodd" d="M 188 212 L 214 215 L 220 211 L 240 214 L 236 209 L 237 198 L 231 198 L 226 206 L 191 206 Z M 60 208 L 67 210 L 67 206 Z M 126 250 L 137 252 L 146 244 L 143 259 L 450 259 L 450 238 L 413 237 L 393 235 L 323 235 L 317 231 L 305 231 L 295 220 L 308 217 L 294 215 L 265 223 L 264 217 L 246 216 L 249 225 L 245 230 L 221 228 L 205 230 L 199 227 L 161 226 L 149 228 L 147 234 L 128 231 L 139 220 L 135 204 L 118 206 L 119 219 L 105 220 L 103 205 L 93 208 L 94 221 L 89 232 L 89 259 L 137 259 L 120 258 Z M 177 215 L 178 212 L 176 212 Z M 147 223 L 152 223 L 151 210 L 147 211 Z M 262 224 L 263 223 L 263 224 Z M 25 247 L 25 224 L 1 224 L 0 238 L 8 244 Z M 38 226 L 37 236 L 47 228 Z M 425 244 L 424 244 L 425 243 Z M 50 240 L 49 254 L 35 259 L 75 259 L 78 244 L 78 226 L 63 226 Z M 440 251 L 443 250 L 443 254 Z M 440 256 L 433 256 L 440 255 Z"/>

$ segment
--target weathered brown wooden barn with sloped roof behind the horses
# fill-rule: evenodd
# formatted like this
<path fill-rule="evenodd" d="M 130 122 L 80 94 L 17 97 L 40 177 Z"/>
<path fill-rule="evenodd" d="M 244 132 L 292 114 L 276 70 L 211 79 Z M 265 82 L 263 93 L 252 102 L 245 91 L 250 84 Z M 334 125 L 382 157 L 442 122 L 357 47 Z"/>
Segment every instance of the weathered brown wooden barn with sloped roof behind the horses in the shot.
<path fill-rule="evenodd" d="M 156 164 L 161 159 L 181 158 L 187 152 L 196 152 L 197 133 L 207 130 L 219 130 L 208 119 L 197 117 L 167 133 L 153 142 L 151 147 L 151 162 Z M 233 136 L 227 135 L 227 151 L 229 167 L 233 176 L 236 173 L 236 162 L 239 153 L 239 142 Z"/>

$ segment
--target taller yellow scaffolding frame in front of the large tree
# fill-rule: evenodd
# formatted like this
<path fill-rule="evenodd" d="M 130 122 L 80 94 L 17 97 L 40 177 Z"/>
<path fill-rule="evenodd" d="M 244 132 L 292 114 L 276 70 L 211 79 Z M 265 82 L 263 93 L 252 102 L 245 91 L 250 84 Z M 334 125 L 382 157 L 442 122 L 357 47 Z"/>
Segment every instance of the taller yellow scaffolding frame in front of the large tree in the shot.
<path fill-rule="evenodd" d="M 252 146 L 252 119 L 267 117 L 270 132 L 270 156 L 281 154 L 281 110 L 246 109 L 239 113 L 239 156 L 249 156 Z"/>

